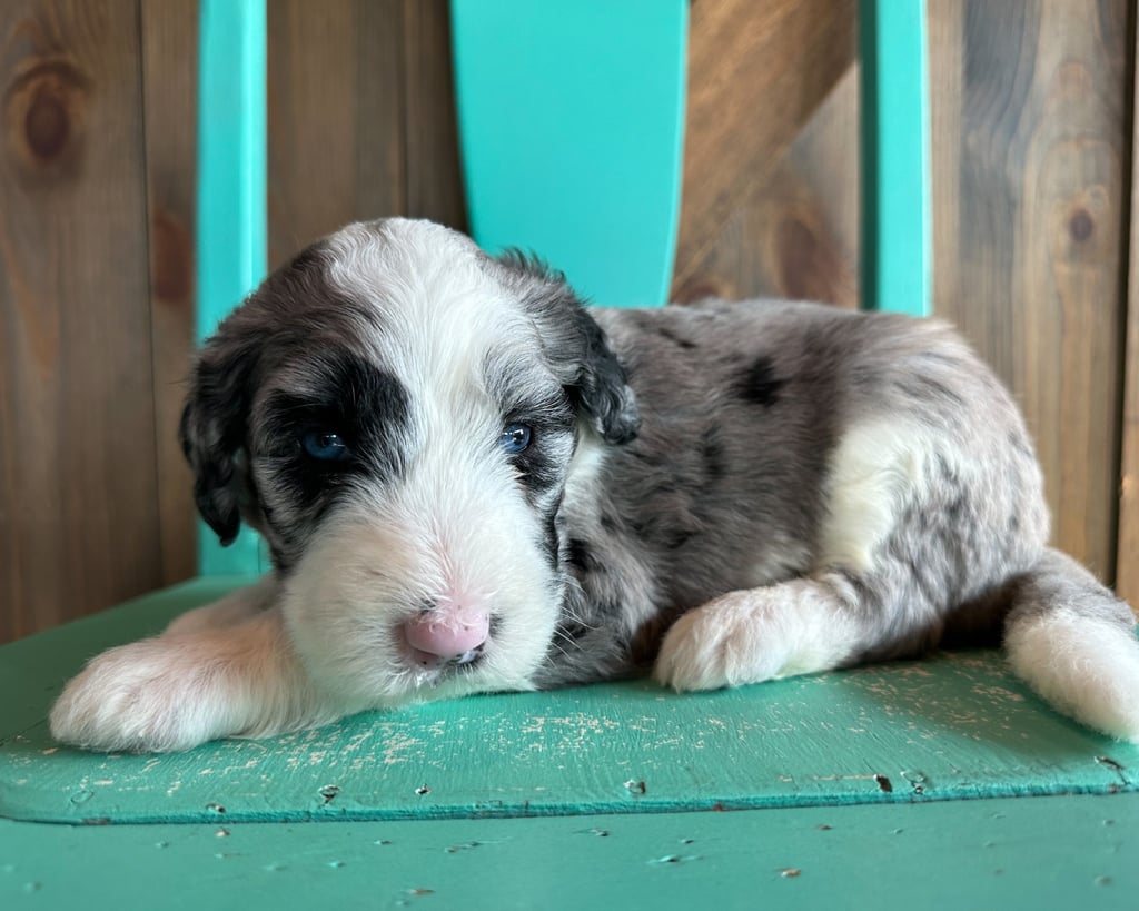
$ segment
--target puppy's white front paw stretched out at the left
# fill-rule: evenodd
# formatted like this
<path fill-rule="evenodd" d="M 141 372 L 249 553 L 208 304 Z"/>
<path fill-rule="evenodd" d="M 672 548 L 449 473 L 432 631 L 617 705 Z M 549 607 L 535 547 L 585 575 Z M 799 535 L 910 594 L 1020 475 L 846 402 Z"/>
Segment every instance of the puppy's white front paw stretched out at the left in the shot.
<path fill-rule="evenodd" d="M 237 733 L 223 668 L 178 638 L 105 651 L 51 709 L 57 740 L 100 752 L 169 753 Z"/>

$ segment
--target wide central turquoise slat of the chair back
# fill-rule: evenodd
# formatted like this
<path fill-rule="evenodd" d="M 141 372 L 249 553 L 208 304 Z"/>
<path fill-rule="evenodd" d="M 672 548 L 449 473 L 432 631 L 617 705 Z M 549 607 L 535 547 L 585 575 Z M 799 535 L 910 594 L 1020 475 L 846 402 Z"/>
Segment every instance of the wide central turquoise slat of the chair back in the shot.
<path fill-rule="evenodd" d="M 472 233 L 595 303 L 669 296 L 680 218 L 686 0 L 452 0 Z"/>

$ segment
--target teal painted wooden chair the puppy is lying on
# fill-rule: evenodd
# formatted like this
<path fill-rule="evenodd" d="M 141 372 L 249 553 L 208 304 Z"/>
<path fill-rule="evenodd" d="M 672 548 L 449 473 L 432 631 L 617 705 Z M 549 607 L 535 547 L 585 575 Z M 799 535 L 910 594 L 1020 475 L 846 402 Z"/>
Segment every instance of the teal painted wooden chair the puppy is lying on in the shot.
<path fill-rule="evenodd" d="M 861 9 L 863 301 L 924 312 L 921 3 Z M 202 10 L 204 336 L 264 271 L 264 9 Z M 481 243 L 533 247 L 605 304 L 664 303 L 686 14 L 453 0 Z M 528 52 L 489 54 L 506 35 Z M 625 82 L 630 57 L 644 77 Z M 564 158 L 509 159 L 523 143 L 501 145 L 519 129 L 505 114 L 543 105 L 560 116 L 535 114 L 522 140 Z M 519 196 L 543 218 L 511 208 Z M 716 693 L 630 681 L 473 697 L 174 756 L 52 744 L 47 708 L 85 657 L 254 577 L 257 542 L 203 535 L 200 568 L 0 649 L 5 908 L 1123 908 L 1139 893 L 1139 752 L 1042 707 L 992 653 Z M 1092 796 L 1108 791 L 1126 793 Z"/>

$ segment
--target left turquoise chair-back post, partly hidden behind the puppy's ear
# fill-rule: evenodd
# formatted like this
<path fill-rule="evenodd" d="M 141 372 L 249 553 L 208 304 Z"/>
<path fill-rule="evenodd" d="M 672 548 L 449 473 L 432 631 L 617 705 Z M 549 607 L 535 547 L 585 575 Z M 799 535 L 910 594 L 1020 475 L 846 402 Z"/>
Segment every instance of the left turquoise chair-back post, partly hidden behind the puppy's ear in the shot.
<path fill-rule="evenodd" d="M 265 273 L 265 5 L 200 0 L 197 337 L 210 336 Z M 205 575 L 252 573 L 260 540 L 228 548 L 198 526 Z"/>

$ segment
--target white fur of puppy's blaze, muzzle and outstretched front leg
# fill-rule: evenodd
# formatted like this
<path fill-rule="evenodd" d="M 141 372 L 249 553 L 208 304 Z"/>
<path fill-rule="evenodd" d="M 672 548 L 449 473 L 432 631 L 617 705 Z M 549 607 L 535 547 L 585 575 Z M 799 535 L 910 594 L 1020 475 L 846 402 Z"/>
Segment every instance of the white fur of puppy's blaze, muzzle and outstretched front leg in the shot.
<path fill-rule="evenodd" d="M 330 514 L 279 590 L 267 581 L 92 660 L 52 712 L 58 739 L 185 749 L 417 699 L 531 688 L 558 619 L 555 571 L 544 528 L 498 449 L 501 404 L 484 376 L 487 358 L 536 347 L 536 330 L 502 304 L 469 240 L 426 222 L 399 231 L 399 243 L 376 244 L 355 227 L 329 244 L 330 284 L 375 307 L 383 330 L 361 325 L 358 334 L 410 393 L 412 433 L 424 442 L 400 482 L 359 490 Z M 303 388 L 309 379 L 287 381 Z M 552 375 L 528 381 L 560 391 Z M 424 604 L 457 597 L 489 606 L 485 654 L 462 673 L 424 668 L 402 624 Z M 269 600 L 277 606 L 267 610 Z"/>

